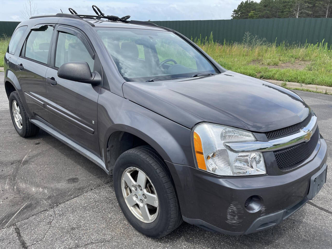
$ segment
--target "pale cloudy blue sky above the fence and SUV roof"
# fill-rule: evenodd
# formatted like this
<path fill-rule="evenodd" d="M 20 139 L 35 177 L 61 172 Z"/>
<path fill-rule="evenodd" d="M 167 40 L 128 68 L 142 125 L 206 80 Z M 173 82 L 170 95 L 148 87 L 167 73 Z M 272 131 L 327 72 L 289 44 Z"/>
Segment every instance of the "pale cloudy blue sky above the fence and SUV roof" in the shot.
<path fill-rule="evenodd" d="M 97 5 L 105 15 L 126 16 L 138 21 L 164 20 L 216 20 L 231 19 L 231 14 L 241 0 L 33 0 L 38 14 L 69 13 L 73 8 L 79 14 L 95 14 Z M 0 0 L 0 21 L 24 21 L 22 11 L 27 0 Z"/>

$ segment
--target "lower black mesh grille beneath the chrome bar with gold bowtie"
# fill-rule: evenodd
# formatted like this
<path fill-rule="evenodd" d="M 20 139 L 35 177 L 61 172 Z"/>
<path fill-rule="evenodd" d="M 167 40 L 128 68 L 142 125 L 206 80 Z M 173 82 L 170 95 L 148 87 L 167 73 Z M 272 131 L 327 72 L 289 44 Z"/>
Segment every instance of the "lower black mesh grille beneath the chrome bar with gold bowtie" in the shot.
<path fill-rule="evenodd" d="M 302 142 L 300 144 L 288 147 L 286 149 L 277 150 L 274 152 L 278 167 L 282 170 L 293 166 L 307 159 L 315 150 L 319 139 L 318 126 L 313 133 L 311 139 L 308 142 Z"/>

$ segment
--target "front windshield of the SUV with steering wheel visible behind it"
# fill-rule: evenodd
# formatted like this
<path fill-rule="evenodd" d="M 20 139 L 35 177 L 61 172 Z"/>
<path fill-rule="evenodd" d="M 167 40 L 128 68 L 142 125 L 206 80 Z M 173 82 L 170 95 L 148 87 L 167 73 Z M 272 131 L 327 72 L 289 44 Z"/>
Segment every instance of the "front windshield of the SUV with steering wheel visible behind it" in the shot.
<path fill-rule="evenodd" d="M 126 81 L 155 81 L 214 74 L 216 69 L 173 32 L 96 28 Z"/>

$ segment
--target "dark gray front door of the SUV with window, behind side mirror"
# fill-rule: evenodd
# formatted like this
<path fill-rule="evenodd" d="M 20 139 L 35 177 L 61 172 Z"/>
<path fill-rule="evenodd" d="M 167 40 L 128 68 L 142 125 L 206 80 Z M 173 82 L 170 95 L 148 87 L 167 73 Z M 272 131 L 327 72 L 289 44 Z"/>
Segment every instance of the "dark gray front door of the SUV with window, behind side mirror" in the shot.
<path fill-rule="evenodd" d="M 66 80 L 57 76 L 65 62 L 85 61 L 101 75 L 101 64 L 90 41 L 78 29 L 59 25 L 46 72 L 49 123 L 81 146 L 100 156 L 97 130 L 97 101 L 101 86 Z"/>

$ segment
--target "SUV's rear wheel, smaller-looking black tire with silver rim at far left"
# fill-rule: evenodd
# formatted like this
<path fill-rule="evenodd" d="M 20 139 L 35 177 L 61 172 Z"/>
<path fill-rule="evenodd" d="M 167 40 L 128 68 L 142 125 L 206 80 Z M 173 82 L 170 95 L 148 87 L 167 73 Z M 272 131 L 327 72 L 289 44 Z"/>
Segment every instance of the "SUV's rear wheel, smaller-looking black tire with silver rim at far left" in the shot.
<path fill-rule="evenodd" d="M 16 106 L 19 114 L 15 111 Z M 22 137 L 35 136 L 39 132 L 39 127 L 30 123 L 27 113 L 24 109 L 20 96 L 16 91 L 9 95 L 9 111 L 12 122 L 17 133 Z M 14 117 L 15 116 L 15 117 Z"/>

